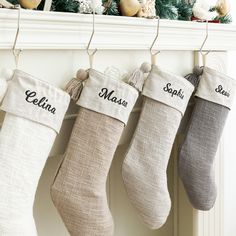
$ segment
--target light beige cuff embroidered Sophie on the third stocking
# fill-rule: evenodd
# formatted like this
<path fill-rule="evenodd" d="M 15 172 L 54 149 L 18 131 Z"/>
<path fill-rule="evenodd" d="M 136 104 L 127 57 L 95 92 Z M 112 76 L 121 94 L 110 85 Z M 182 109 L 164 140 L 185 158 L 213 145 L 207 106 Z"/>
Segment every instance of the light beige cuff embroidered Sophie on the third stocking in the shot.
<path fill-rule="evenodd" d="M 177 109 L 183 115 L 193 90 L 194 86 L 185 78 L 153 65 L 142 94 Z"/>

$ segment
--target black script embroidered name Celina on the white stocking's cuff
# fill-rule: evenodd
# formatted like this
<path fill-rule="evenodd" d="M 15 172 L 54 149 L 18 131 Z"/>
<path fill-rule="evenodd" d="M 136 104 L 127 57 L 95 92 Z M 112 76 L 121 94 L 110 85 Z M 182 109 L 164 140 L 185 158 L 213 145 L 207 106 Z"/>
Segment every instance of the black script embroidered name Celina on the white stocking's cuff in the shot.
<path fill-rule="evenodd" d="M 41 99 L 38 99 L 36 98 L 37 93 L 35 91 L 30 91 L 30 90 L 27 90 L 25 92 L 25 95 L 26 95 L 25 100 L 28 103 L 32 103 L 35 106 L 38 106 L 46 111 L 51 112 L 52 114 L 56 113 L 56 108 L 48 103 L 48 99 L 46 97 L 42 97 Z"/>

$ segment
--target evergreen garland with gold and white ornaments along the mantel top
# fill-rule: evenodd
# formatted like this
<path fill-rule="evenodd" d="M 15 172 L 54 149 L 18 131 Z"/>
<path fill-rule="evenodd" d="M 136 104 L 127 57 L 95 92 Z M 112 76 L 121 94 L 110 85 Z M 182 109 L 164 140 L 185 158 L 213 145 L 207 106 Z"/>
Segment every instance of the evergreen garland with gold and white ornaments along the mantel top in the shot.
<path fill-rule="evenodd" d="M 41 0 L 37 10 L 43 10 L 44 1 Z M 36 7 L 36 5 L 25 4 L 32 2 L 30 0 L 9 0 L 9 2 L 12 4 L 21 2 L 25 8 Z M 33 2 L 36 4 L 40 0 Z M 159 16 L 161 19 L 208 20 L 225 24 L 232 22 L 228 0 L 53 0 L 51 11 L 92 14 L 94 8 L 96 14 L 104 15 L 146 18 Z"/>

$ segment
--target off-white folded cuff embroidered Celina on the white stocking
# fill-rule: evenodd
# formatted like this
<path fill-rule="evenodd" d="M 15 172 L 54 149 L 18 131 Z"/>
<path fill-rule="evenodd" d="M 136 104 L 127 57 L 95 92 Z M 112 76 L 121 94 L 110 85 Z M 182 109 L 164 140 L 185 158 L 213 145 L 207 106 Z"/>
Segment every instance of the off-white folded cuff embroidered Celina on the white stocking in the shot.
<path fill-rule="evenodd" d="M 69 102 L 64 91 L 15 70 L 1 109 L 59 132 Z"/>

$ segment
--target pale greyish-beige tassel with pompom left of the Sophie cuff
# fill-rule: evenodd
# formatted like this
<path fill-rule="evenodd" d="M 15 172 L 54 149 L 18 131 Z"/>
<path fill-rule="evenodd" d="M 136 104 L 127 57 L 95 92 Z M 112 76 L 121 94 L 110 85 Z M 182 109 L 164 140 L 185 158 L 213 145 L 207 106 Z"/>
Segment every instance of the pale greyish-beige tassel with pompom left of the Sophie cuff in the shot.
<path fill-rule="evenodd" d="M 144 84 L 144 74 L 151 70 L 151 65 L 144 62 L 139 69 L 136 69 L 131 77 L 128 79 L 128 84 L 136 88 L 138 91 L 142 91 Z"/>

